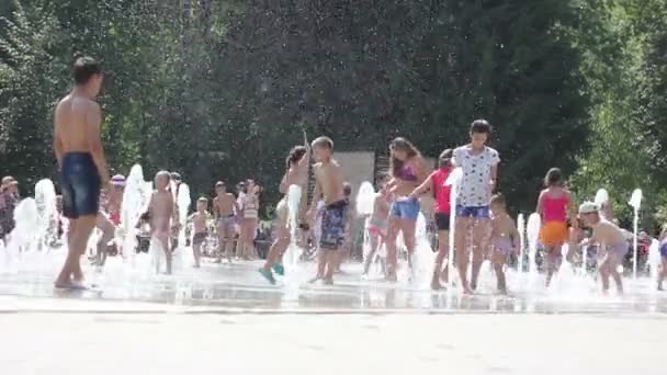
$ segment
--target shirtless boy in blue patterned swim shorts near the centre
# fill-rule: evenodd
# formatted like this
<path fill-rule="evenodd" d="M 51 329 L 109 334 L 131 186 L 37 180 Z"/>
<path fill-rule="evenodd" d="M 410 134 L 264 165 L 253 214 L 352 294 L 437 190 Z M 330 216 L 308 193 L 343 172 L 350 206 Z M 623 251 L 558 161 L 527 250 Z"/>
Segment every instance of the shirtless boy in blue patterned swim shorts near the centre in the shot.
<path fill-rule="evenodd" d="M 317 202 L 324 198 L 325 208 L 321 217 L 321 235 L 317 261 L 317 275 L 312 282 L 319 279 L 325 284 L 334 283 L 334 270 L 337 264 L 337 251 L 344 240 L 347 202 L 343 195 L 342 170 L 338 162 L 331 158 L 334 141 L 328 137 L 318 137 L 313 141 L 313 151 L 318 161 L 314 167 L 315 193 L 309 215 L 313 216 Z"/>

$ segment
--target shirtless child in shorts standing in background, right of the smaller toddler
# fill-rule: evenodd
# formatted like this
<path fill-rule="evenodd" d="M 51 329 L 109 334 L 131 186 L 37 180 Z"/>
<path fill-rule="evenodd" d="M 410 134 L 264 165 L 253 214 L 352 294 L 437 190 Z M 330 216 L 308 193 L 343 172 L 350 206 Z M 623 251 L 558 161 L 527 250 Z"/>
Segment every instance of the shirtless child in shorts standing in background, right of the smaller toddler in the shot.
<path fill-rule="evenodd" d="M 234 237 L 236 236 L 236 213 L 240 213 L 240 206 L 236 202 L 234 194 L 227 192 L 225 183 L 215 183 L 216 196 L 213 198 L 213 214 L 217 219 L 217 260 L 223 259 L 223 252 L 227 252 L 227 261 L 231 264 L 231 253 L 234 252 Z"/>

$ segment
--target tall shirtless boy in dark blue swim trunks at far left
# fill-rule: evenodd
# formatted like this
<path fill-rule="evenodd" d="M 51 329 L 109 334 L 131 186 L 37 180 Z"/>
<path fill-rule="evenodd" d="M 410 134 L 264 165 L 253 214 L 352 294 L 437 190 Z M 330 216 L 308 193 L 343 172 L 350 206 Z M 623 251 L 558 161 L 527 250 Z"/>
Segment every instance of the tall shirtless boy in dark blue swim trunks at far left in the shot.
<path fill-rule="evenodd" d="M 95 226 L 100 189 L 109 170 L 100 139 L 102 113 L 94 98 L 102 84 L 102 67 L 90 57 L 74 64 L 75 87 L 56 106 L 54 152 L 63 190 L 63 214 L 69 218 L 68 254 L 55 286 L 86 288 L 80 257 Z"/>

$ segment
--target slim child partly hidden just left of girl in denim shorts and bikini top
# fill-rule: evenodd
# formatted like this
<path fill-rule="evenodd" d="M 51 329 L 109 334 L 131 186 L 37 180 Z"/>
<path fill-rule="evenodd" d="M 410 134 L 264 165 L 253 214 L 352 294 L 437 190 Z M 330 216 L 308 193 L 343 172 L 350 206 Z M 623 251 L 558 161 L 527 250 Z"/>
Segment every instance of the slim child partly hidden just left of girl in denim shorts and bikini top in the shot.
<path fill-rule="evenodd" d="M 369 269 L 371 268 L 371 262 L 375 257 L 375 251 L 382 246 L 384 242 L 384 237 L 387 232 L 387 224 L 389 217 L 389 190 L 388 190 L 388 181 L 389 177 L 385 175 L 380 185 L 380 191 L 375 193 L 375 200 L 373 201 L 373 214 L 371 214 L 371 218 L 369 219 L 369 242 L 370 249 L 369 253 L 365 254 L 363 261 L 363 276 L 369 276 Z M 383 270 L 384 270 L 383 264 Z"/>

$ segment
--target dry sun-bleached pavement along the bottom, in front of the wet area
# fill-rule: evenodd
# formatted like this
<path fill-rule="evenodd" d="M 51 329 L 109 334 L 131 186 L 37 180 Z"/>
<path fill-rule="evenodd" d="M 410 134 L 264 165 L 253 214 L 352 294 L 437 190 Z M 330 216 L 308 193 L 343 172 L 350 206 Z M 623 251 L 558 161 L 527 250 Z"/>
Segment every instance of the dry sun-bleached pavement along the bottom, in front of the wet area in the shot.
<path fill-rule="evenodd" d="M 665 374 L 662 317 L 0 315 L 3 374 Z"/>

